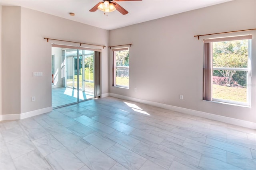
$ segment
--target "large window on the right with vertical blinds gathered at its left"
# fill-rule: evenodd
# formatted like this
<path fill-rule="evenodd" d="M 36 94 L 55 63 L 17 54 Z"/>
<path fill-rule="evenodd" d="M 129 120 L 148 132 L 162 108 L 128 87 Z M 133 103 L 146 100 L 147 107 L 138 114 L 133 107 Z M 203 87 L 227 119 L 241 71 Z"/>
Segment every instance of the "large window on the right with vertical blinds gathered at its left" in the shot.
<path fill-rule="evenodd" d="M 250 106 L 250 39 L 204 39 L 203 100 Z"/>

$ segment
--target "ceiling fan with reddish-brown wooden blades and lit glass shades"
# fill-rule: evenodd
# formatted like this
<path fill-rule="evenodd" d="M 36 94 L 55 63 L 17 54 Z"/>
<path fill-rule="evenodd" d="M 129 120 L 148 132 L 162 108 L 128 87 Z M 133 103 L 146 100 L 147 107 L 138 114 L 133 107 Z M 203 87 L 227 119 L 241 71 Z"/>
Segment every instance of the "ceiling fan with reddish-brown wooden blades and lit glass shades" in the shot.
<path fill-rule="evenodd" d="M 121 14 L 126 15 L 128 11 L 126 11 L 122 6 L 118 5 L 115 1 L 142 1 L 142 0 L 103 0 L 103 2 L 99 2 L 96 4 L 90 12 L 95 12 L 96 10 L 101 10 L 106 14 L 107 12 L 113 12 L 114 10 L 118 10 Z"/>

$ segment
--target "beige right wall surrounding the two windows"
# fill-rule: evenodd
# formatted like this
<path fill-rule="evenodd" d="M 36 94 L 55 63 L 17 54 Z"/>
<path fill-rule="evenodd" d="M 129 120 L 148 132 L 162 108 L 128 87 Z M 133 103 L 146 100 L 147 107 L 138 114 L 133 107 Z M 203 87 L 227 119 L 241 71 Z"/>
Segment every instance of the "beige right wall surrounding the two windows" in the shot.
<path fill-rule="evenodd" d="M 256 31 L 201 37 L 200 40 L 193 37 L 252 28 L 256 28 L 256 1 L 249 0 L 111 30 L 110 45 L 133 45 L 129 55 L 130 88 L 112 86 L 110 60 L 110 93 L 256 122 L 256 48 L 252 51 L 251 108 L 202 101 L 202 39 L 252 34 L 252 46 L 256 47 Z M 180 100 L 180 95 L 184 95 L 184 100 Z"/>

